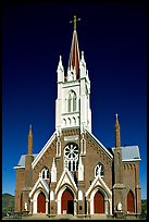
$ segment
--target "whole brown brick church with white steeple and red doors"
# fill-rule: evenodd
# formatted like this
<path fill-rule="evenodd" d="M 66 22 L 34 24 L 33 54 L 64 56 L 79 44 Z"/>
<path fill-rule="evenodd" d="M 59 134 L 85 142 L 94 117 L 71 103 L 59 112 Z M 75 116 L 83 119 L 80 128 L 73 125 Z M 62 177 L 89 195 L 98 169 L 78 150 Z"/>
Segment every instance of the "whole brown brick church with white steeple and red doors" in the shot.
<path fill-rule="evenodd" d="M 76 22 L 66 73 L 60 55 L 55 128 L 39 153 L 28 150 L 15 170 L 15 211 L 50 217 L 91 218 L 141 213 L 138 146 L 121 146 L 115 114 L 115 144 L 107 148 L 91 133 L 90 79 L 84 51 L 79 52 Z M 112 133 L 112 132 L 111 132 Z"/>

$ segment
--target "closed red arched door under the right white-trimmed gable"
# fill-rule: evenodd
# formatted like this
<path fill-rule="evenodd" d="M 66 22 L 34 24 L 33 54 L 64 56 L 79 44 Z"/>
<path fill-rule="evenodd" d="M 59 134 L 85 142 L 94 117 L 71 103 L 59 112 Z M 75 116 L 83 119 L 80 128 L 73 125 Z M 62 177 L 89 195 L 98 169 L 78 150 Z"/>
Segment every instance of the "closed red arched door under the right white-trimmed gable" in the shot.
<path fill-rule="evenodd" d="M 104 213 L 104 197 L 100 192 L 97 192 L 94 199 L 95 213 Z"/>

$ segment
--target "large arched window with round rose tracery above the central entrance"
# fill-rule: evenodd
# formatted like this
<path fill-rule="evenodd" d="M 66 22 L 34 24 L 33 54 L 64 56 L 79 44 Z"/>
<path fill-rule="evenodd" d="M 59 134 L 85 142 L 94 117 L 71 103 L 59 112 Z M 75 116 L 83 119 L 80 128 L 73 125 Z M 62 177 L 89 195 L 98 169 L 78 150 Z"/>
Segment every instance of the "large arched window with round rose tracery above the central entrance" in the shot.
<path fill-rule="evenodd" d="M 75 143 L 70 143 L 64 149 L 64 166 L 70 171 L 78 169 L 78 146 Z"/>

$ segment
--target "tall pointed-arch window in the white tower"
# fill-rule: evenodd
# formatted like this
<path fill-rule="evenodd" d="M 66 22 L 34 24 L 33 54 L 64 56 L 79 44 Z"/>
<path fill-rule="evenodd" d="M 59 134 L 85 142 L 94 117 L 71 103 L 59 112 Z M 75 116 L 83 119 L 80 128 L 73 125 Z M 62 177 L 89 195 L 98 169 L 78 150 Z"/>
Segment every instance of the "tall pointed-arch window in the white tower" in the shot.
<path fill-rule="evenodd" d="M 76 94 L 75 91 L 71 90 L 69 92 L 67 98 L 67 112 L 75 112 L 76 111 Z"/>

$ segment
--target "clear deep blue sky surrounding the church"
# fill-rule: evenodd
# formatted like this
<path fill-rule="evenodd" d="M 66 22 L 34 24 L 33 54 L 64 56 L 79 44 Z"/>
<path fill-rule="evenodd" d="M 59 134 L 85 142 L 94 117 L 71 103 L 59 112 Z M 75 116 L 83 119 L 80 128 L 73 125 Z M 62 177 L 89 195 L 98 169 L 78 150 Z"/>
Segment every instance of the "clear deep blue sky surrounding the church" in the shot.
<path fill-rule="evenodd" d="M 92 133 L 114 147 L 115 113 L 121 143 L 140 149 L 141 198 L 147 198 L 146 11 L 140 3 L 13 3 L 2 16 L 2 193 L 14 195 L 15 171 L 54 132 L 59 55 L 67 70 L 77 24 L 79 50 L 91 82 Z"/>

